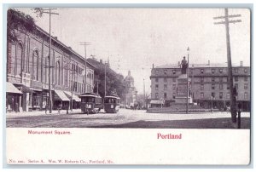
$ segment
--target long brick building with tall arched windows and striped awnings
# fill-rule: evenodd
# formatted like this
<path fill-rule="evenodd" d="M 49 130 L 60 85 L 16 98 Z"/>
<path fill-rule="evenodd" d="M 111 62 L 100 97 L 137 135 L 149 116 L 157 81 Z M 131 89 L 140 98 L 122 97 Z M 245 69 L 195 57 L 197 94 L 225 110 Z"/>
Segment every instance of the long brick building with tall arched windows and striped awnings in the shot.
<path fill-rule="evenodd" d="M 49 57 L 49 33 L 38 26 L 33 33 L 15 32 L 18 41 L 9 42 L 7 52 L 7 110 L 42 110 L 48 105 L 49 67 L 54 108 L 68 106 L 72 92 L 73 106 L 79 107 L 78 95 L 93 91 L 95 66 L 87 62 L 85 76 L 84 57 L 57 37 L 52 37 Z"/>

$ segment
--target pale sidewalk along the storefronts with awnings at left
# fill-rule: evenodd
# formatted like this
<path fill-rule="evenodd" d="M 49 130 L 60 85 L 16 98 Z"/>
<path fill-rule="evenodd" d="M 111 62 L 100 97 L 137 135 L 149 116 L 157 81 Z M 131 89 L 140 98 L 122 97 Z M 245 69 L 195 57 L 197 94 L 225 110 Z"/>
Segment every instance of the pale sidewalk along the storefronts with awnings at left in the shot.
<path fill-rule="evenodd" d="M 79 113 L 79 112 L 81 112 L 81 109 L 73 109 L 73 112 L 71 112 L 71 110 L 68 110 L 68 114 Z M 60 114 L 67 114 L 67 110 L 62 109 Z M 49 113 L 49 111 L 47 111 L 47 113 L 45 113 L 45 111 L 6 112 L 6 117 L 8 118 L 40 116 L 40 115 L 58 115 L 58 110 L 52 110 L 52 113 Z"/>

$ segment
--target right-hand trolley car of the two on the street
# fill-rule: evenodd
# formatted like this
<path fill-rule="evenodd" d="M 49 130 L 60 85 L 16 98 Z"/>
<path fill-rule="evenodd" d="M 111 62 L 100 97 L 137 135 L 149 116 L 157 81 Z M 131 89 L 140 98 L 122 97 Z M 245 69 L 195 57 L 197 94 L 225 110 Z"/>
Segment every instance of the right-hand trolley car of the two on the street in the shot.
<path fill-rule="evenodd" d="M 119 112 L 120 98 L 118 95 L 108 95 L 104 98 L 105 112 Z"/>

